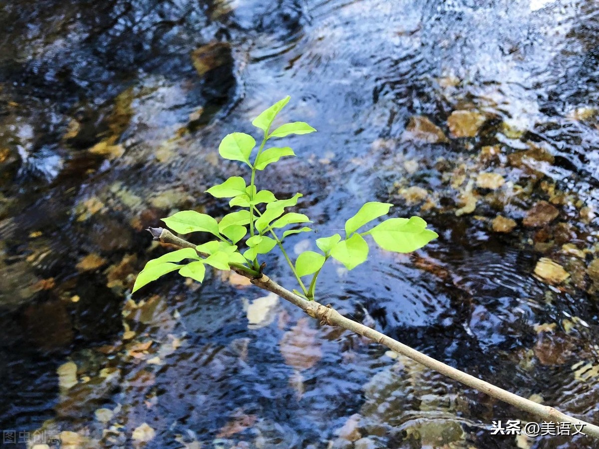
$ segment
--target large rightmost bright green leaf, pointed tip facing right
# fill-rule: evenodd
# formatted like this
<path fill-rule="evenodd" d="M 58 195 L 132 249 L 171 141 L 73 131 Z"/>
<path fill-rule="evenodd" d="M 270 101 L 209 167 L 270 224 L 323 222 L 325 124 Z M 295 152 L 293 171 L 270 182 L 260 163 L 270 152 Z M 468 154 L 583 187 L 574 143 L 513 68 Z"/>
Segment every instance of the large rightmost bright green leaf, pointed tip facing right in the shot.
<path fill-rule="evenodd" d="M 411 253 L 438 237 L 436 232 L 426 229 L 426 222 L 420 217 L 388 219 L 365 233 L 368 234 L 383 250 L 395 253 Z"/>

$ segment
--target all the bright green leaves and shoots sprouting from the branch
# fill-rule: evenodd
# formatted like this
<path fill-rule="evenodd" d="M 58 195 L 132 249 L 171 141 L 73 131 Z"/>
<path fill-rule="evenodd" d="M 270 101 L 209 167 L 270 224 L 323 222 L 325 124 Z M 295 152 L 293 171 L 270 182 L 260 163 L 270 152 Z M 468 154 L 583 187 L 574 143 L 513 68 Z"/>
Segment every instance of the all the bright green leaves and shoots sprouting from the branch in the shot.
<path fill-rule="evenodd" d="M 295 156 L 291 147 L 272 146 L 265 149 L 270 139 L 316 131 L 305 122 L 285 123 L 270 131 L 277 115 L 288 102 L 289 96 L 276 102 L 253 120 L 252 125 L 264 133 L 253 160 L 252 153 L 256 148 L 256 141 L 251 135 L 234 132 L 226 135 L 220 142 L 220 156 L 243 162 L 251 169 L 249 184 L 243 177 L 233 176 L 210 187 L 206 192 L 214 198 L 229 198 L 229 207 L 239 207 L 240 210 L 226 214 L 219 221 L 196 211 L 181 211 L 163 219 L 175 232 L 207 232 L 216 237 L 216 240 L 150 260 L 135 280 L 134 292 L 162 275 L 177 270 L 182 276 L 202 282 L 206 265 L 220 270 L 228 270 L 234 266 L 256 275 L 261 270 L 258 257 L 278 246 L 301 288 L 301 292 L 294 292 L 306 299 L 313 299 L 316 280 L 326 260 L 332 257 L 349 270 L 367 260 L 368 242 L 364 239 L 367 235 L 372 236 L 374 242 L 383 250 L 397 253 L 409 253 L 437 238 L 437 233 L 426 229 L 426 222 L 419 217 L 388 219 L 370 230 L 360 232 L 368 223 L 388 214 L 392 206 L 389 203 L 368 202 L 346 221 L 344 238 L 334 234 L 316 239 L 316 246 L 321 253 L 304 251 L 299 254 L 294 264 L 283 247 L 283 241 L 290 235 L 310 232 L 310 227 L 292 227 L 283 230 L 280 237 L 277 232 L 288 226 L 311 223 L 305 214 L 286 211 L 287 208 L 296 207 L 302 195 L 297 193 L 292 198 L 278 199 L 270 190 L 257 191 L 255 184 L 257 171 L 264 170 L 282 157 Z M 243 252 L 238 247 L 240 242 L 244 242 L 247 247 Z M 312 275 L 312 278 L 306 287 L 302 278 L 308 275 Z"/>

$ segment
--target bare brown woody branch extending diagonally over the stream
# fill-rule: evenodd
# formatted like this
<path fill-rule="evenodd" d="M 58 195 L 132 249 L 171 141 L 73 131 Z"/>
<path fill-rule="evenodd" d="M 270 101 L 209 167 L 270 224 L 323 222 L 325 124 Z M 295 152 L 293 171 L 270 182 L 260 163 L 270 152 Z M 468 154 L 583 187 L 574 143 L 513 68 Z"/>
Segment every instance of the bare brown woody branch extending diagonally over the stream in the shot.
<path fill-rule="evenodd" d="M 177 245 L 183 248 L 195 248 L 196 245 L 177 237 L 168 229 L 162 228 L 150 228 L 150 233 L 155 236 L 155 239 L 163 243 Z M 204 254 L 207 256 L 207 254 Z M 422 365 L 437 371 L 443 375 L 446 375 L 465 386 L 471 387 L 479 392 L 485 393 L 486 395 L 492 396 L 493 398 L 499 399 L 500 401 L 506 402 L 507 404 L 513 405 L 516 408 L 529 412 L 536 415 L 539 418 L 543 418 L 546 421 L 552 421 L 554 423 L 567 422 L 570 424 L 577 424 L 578 426 L 583 425 L 582 432 L 588 436 L 599 438 L 599 426 L 588 423 L 587 421 L 580 420 L 573 416 L 562 413 L 556 408 L 537 404 L 537 402 L 530 401 L 529 399 L 522 398 L 521 396 L 510 393 L 507 390 L 501 389 L 493 384 L 480 380 L 473 375 L 467 374 L 459 369 L 453 368 L 452 366 L 446 365 L 443 362 L 433 359 L 432 357 L 426 356 L 419 351 L 404 345 L 403 343 L 386 336 L 377 330 L 371 329 L 370 327 L 364 326 L 364 324 L 358 323 L 357 321 L 350 320 L 338 313 L 335 309 L 331 308 L 330 305 L 322 305 L 316 301 L 307 301 L 299 295 L 285 289 L 280 286 L 271 278 L 265 274 L 260 274 L 252 269 L 246 267 L 232 267 L 233 271 L 240 275 L 243 275 L 250 279 L 251 283 L 261 289 L 268 290 L 268 292 L 275 293 L 286 301 L 291 302 L 295 306 L 301 308 L 305 313 L 310 315 L 312 318 L 316 318 L 321 324 L 328 324 L 329 326 L 338 326 L 343 329 L 351 330 L 352 332 L 358 333 L 359 335 L 365 336 L 379 344 L 382 344 L 389 349 L 395 351 L 398 354 L 409 357 L 416 362 L 422 363 Z"/>

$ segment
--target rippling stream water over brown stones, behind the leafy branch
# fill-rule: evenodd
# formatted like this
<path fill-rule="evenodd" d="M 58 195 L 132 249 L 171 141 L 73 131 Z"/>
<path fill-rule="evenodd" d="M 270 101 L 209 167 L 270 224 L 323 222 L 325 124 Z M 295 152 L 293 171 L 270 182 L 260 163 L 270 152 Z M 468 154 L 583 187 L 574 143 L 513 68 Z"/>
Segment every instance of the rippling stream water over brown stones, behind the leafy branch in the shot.
<path fill-rule="evenodd" d="M 325 266 L 320 301 L 599 423 L 598 24 L 592 0 L 0 2 L 5 446 L 596 447 L 491 435 L 535 418 L 219 272 L 130 292 L 165 252 L 144 227 L 224 214 L 220 139 L 291 95 L 318 132 L 259 186 L 304 193 L 316 237 L 366 201 L 440 235 Z"/>

